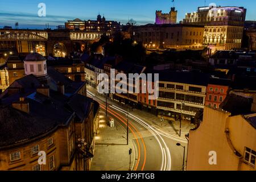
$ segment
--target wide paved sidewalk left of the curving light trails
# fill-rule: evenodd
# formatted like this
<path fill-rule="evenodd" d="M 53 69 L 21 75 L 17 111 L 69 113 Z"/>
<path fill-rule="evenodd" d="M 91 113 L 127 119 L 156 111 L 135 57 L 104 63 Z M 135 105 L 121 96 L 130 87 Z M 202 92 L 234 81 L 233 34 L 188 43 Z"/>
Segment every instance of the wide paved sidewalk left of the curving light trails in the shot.
<path fill-rule="evenodd" d="M 115 127 L 109 127 L 105 112 L 100 111 L 100 129 L 96 137 L 96 149 L 90 171 L 129 171 L 129 150 L 133 149 L 131 155 L 131 170 L 135 165 L 135 148 L 133 141 L 129 140 L 126 145 L 126 129 L 115 122 Z M 129 135 L 129 138 L 133 137 Z"/>

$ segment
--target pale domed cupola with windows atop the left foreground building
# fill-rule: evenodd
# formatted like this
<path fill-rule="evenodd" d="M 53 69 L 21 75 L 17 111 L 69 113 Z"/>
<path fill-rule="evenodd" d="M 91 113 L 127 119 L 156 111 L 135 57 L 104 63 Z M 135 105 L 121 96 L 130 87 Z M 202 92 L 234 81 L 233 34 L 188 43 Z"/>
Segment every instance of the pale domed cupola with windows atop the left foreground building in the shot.
<path fill-rule="evenodd" d="M 42 77 L 47 75 L 46 59 L 39 53 L 30 53 L 24 59 L 24 68 L 26 75 Z"/>

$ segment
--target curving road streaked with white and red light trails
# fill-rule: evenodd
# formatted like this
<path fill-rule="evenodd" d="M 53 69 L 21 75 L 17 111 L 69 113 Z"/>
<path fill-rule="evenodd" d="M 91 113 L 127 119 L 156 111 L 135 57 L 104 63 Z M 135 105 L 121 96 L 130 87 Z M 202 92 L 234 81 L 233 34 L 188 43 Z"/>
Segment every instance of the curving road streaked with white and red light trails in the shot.
<path fill-rule="evenodd" d="M 87 92 L 89 97 L 100 103 L 101 109 L 106 110 L 105 98 Z M 108 100 L 108 114 L 115 122 L 127 128 L 127 110 Z M 133 137 L 133 143 L 137 149 L 137 158 L 134 171 L 181 171 L 183 164 L 183 147 L 187 148 L 187 141 L 173 137 L 162 130 L 149 125 L 137 115 L 129 113 L 129 137 Z M 187 151 L 185 151 L 187 154 Z M 186 157 L 185 157 L 186 159 Z"/>

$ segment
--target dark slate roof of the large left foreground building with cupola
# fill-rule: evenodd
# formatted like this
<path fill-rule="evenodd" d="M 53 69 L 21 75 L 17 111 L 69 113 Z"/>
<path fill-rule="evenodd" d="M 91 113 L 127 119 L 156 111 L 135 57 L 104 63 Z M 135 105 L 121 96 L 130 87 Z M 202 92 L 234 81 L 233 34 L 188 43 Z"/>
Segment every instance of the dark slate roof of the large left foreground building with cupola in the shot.
<path fill-rule="evenodd" d="M 15 143 L 26 142 L 40 137 L 59 126 L 67 125 L 69 118 L 77 115 L 86 118 L 94 103 L 93 100 L 77 93 L 84 82 L 73 82 L 53 68 L 48 68 L 47 84 L 49 97 L 36 92 L 42 86 L 41 78 L 33 75 L 16 80 L 0 97 L 0 148 Z M 57 83 L 65 86 L 65 95 L 57 91 Z M 45 82 L 44 82 L 45 83 Z M 8 94 L 9 89 L 19 92 Z M 29 104 L 30 113 L 24 113 L 11 107 L 13 102 L 24 97 Z M 80 120 L 76 122 L 81 122 Z"/>

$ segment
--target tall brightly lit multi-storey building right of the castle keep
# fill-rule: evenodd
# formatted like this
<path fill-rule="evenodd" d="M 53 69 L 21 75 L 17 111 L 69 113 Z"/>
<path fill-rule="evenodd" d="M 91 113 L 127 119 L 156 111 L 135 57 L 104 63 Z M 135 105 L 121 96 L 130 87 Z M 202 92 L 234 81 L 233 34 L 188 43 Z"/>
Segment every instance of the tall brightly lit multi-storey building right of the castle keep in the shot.
<path fill-rule="evenodd" d="M 187 13 L 184 24 L 205 26 L 204 46 L 210 51 L 241 48 L 246 9 L 243 7 L 205 6 Z"/>

